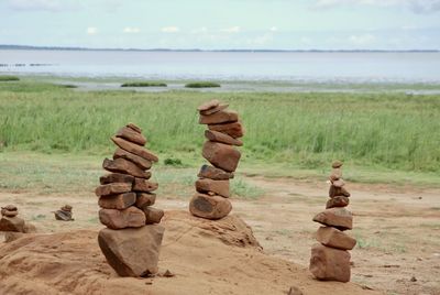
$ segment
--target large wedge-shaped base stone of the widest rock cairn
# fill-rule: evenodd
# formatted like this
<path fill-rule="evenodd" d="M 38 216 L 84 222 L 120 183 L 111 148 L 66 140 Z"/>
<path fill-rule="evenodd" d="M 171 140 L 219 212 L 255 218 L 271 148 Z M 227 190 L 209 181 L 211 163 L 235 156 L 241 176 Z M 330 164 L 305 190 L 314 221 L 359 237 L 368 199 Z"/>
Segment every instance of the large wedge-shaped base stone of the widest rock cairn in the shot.
<path fill-rule="evenodd" d="M 148 276 L 157 273 L 158 254 L 164 227 L 139 229 L 102 229 L 98 243 L 110 266 L 120 276 Z"/>

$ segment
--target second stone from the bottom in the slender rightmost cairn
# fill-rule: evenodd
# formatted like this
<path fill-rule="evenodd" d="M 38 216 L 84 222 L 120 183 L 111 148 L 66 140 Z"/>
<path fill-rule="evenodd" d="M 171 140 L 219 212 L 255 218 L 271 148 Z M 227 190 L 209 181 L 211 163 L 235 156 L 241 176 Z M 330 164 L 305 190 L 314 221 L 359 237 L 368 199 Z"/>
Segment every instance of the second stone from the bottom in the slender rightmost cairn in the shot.
<path fill-rule="evenodd" d="M 356 244 L 355 239 L 332 227 L 320 227 L 316 239 L 321 244 L 341 250 L 352 250 Z"/>

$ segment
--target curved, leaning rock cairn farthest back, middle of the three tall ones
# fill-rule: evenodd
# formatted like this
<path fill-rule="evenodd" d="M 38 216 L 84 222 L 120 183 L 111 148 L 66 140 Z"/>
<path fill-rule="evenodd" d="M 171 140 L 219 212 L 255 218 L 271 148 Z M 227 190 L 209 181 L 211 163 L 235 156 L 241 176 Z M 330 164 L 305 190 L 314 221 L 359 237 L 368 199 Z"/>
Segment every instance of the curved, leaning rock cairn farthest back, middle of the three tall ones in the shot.
<path fill-rule="evenodd" d="M 244 130 L 238 112 L 227 110 L 228 106 L 216 99 L 198 107 L 199 123 L 208 124 L 202 155 L 212 166 L 201 166 L 189 211 L 206 219 L 223 218 L 232 209 L 228 199 L 229 179 L 233 178 L 240 161 L 241 153 L 234 145 L 243 145 L 239 138 L 243 136 Z"/>

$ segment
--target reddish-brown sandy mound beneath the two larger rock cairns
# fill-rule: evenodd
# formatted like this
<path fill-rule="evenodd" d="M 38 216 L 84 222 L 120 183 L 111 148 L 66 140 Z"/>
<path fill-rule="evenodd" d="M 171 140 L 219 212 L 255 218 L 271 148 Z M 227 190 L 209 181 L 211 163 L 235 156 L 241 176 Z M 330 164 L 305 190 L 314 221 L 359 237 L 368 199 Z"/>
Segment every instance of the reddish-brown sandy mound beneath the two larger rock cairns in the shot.
<path fill-rule="evenodd" d="M 0 244 L 2 294 L 374 294 L 348 283 L 317 282 L 308 271 L 261 250 L 238 217 L 208 221 L 169 211 L 161 273 L 173 277 L 118 277 L 106 263 L 97 232 L 28 234 Z M 295 247 L 295 241 L 292 241 Z"/>

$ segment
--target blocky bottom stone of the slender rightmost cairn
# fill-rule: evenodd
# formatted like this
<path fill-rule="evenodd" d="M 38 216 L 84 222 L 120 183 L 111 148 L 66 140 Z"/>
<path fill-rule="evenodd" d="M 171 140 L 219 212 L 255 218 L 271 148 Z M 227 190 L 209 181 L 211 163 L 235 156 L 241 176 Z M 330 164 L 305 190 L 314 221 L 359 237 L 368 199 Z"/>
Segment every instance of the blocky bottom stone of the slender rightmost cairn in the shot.
<path fill-rule="evenodd" d="M 322 281 L 350 281 L 350 253 L 316 244 L 311 248 L 310 272 Z"/>

